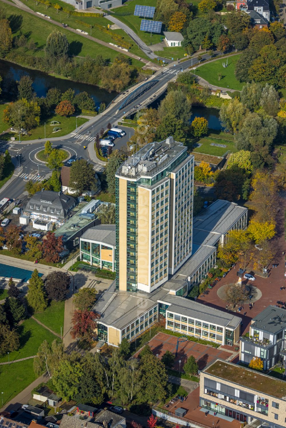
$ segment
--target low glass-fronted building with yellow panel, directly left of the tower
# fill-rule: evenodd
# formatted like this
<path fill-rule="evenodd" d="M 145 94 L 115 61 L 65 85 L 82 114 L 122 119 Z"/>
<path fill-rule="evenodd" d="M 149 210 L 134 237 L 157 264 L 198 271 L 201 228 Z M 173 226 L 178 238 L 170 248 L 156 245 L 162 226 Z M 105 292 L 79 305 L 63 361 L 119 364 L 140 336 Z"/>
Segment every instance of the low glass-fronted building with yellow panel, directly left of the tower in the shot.
<path fill-rule="evenodd" d="M 87 229 L 80 238 L 80 257 L 100 269 L 115 267 L 115 225 L 99 224 Z"/>

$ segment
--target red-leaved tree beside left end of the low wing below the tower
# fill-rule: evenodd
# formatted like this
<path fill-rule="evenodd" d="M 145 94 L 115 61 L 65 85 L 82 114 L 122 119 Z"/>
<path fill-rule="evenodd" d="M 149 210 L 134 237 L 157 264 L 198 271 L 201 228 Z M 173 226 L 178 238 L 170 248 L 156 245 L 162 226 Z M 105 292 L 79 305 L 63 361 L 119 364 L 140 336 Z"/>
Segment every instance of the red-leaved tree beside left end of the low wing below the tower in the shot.
<path fill-rule="evenodd" d="M 91 338 L 96 329 L 96 318 L 100 318 L 100 315 L 93 311 L 75 310 L 72 317 L 72 330 L 70 335 L 72 339 L 85 339 L 87 342 L 91 341 Z"/>

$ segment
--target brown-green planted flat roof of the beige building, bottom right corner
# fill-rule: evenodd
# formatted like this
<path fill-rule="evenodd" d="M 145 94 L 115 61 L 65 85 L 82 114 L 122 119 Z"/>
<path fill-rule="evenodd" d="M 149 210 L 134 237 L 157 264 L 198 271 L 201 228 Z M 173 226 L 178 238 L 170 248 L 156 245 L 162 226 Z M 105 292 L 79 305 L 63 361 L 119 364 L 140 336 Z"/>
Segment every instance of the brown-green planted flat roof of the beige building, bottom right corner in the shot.
<path fill-rule="evenodd" d="M 238 364 L 229 363 L 225 360 L 216 360 L 202 372 L 220 377 L 245 388 L 286 400 L 285 380 L 264 375 L 243 366 L 238 366 Z"/>

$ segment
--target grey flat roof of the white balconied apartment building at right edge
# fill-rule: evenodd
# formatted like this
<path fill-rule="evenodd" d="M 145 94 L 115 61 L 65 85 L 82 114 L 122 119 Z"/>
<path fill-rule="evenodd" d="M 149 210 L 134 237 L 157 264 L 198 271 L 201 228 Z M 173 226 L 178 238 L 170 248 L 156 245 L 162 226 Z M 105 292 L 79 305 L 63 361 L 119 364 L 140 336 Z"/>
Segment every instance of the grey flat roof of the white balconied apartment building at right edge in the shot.
<path fill-rule="evenodd" d="M 268 306 L 252 321 L 250 327 L 274 334 L 286 328 L 286 309 Z"/>

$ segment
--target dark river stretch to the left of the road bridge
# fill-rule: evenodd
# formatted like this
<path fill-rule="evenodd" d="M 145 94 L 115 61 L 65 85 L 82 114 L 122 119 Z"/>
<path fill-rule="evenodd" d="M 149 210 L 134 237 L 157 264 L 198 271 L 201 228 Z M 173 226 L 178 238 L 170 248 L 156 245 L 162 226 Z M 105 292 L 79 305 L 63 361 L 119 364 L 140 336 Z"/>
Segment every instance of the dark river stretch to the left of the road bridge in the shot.
<path fill-rule="evenodd" d="M 72 80 L 59 79 L 57 77 L 49 76 L 42 71 L 24 68 L 21 67 L 21 65 L 0 60 L 0 76 L 3 78 L 3 82 L 1 83 L 2 88 L 5 87 L 8 80 L 20 80 L 25 74 L 29 75 L 33 80 L 33 89 L 38 97 L 45 97 L 48 89 L 50 88 L 56 87 L 60 89 L 61 92 L 65 92 L 67 89 L 72 88 L 75 91 L 75 94 L 86 91 L 88 95 L 93 98 L 96 106 L 99 107 L 101 102 L 108 105 L 117 95 L 117 92 L 110 93 L 98 86 L 73 82 Z"/>

